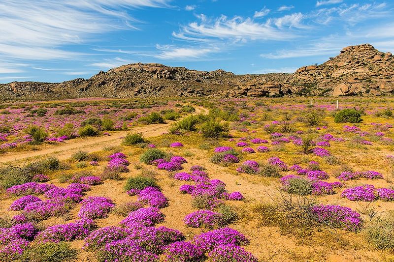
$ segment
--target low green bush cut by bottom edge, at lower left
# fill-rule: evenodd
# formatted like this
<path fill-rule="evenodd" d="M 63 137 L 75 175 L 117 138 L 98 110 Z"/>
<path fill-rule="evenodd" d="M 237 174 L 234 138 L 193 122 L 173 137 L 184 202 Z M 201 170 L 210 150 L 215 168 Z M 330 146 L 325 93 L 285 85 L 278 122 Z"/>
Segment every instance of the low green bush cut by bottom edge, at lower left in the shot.
<path fill-rule="evenodd" d="M 77 250 L 66 242 L 46 242 L 30 245 L 21 255 L 21 262 L 67 262 L 74 261 Z"/>

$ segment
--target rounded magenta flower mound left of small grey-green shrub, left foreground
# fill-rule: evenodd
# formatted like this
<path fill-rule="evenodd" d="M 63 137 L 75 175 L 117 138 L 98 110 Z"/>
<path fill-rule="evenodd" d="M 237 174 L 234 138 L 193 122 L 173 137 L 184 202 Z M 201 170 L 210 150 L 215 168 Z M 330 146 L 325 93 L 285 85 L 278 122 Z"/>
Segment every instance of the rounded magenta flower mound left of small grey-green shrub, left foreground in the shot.
<path fill-rule="evenodd" d="M 104 197 L 88 197 L 82 202 L 78 217 L 82 219 L 97 219 L 106 217 L 115 206 L 112 200 Z"/>

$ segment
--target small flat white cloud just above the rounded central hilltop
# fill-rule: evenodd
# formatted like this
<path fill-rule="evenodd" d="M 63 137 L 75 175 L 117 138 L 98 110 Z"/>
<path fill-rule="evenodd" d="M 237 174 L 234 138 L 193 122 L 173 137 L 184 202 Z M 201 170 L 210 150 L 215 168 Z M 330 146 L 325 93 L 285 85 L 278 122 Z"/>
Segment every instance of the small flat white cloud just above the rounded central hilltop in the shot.
<path fill-rule="evenodd" d="M 185 60 L 190 58 L 201 58 L 205 57 L 210 53 L 218 52 L 219 49 L 216 47 L 212 48 L 199 48 L 199 47 L 176 47 L 172 45 L 157 45 L 158 50 L 161 50 L 161 53 L 155 55 L 156 58 L 161 59 L 176 59 L 176 60 Z"/>

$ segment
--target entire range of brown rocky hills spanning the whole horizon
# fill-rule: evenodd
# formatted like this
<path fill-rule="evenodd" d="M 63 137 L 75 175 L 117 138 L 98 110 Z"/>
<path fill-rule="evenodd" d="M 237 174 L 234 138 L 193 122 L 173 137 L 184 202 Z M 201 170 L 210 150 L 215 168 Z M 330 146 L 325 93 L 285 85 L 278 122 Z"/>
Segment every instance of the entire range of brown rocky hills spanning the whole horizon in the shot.
<path fill-rule="evenodd" d="M 294 74 L 234 75 L 157 63 L 134 63 L 63 83 L 0 84 L 0 99 L 76 97 L 261 97 L 290 95 L 381 95 L 394 92 L 394 58 L 369 44 L 349 46 L 321 65 Z"/>

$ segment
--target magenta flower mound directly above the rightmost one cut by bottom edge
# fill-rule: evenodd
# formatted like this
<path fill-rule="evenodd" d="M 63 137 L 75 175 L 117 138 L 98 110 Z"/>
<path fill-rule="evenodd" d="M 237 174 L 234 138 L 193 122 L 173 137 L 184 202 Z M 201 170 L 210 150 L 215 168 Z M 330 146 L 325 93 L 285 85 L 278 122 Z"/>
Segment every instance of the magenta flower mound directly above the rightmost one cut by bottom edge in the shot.
<path fill-rule="evenodd" d="M 196 235 L 192 243 L 203 251 L 211 251 L 219 245 L 246 245 L 249 240 L 234 229 L 221 228 Z"/>

